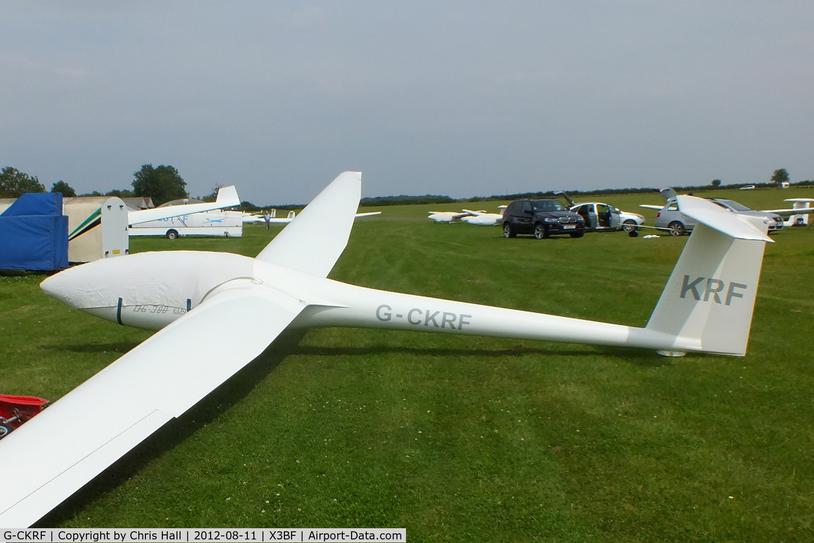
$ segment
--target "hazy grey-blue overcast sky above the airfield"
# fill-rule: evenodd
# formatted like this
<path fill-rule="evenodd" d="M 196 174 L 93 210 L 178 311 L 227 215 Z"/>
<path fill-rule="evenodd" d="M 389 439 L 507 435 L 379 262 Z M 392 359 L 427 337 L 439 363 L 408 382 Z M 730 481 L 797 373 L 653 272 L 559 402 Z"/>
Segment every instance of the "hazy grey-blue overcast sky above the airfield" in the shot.
<path fill-rule="evenodd" d="M 307 202 L 814 179 L 814 2 L 5 2 L 0 166 Z"/>

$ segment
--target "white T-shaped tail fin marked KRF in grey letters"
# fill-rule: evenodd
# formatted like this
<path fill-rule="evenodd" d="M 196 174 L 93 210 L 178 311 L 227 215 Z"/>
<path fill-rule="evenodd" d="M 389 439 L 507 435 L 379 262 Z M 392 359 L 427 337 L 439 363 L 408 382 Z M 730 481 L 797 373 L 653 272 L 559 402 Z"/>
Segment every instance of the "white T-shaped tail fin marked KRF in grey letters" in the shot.
<path fill-rule="evenodd" d="M 647 329 L 676 338 L 676 351 L 743 356 L 749 340 L 766 226 L 692 196 L 681 212 L 698 221 Z M 663 353 L 668 354 L 668 353 Z"/>

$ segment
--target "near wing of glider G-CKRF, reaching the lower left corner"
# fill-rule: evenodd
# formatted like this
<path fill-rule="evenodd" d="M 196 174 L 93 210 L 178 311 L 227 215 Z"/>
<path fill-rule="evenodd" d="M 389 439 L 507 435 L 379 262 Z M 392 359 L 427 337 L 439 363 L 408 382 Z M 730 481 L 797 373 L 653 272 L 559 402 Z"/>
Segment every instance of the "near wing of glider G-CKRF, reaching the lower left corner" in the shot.
<path fill-rule="evenodd" d="M 0 441 L 0 462 L 14 466 L 0 486 L 0 527 L 46 515 L 260 355 L 304 308 L 251 279 L 220 289 Z"/>

